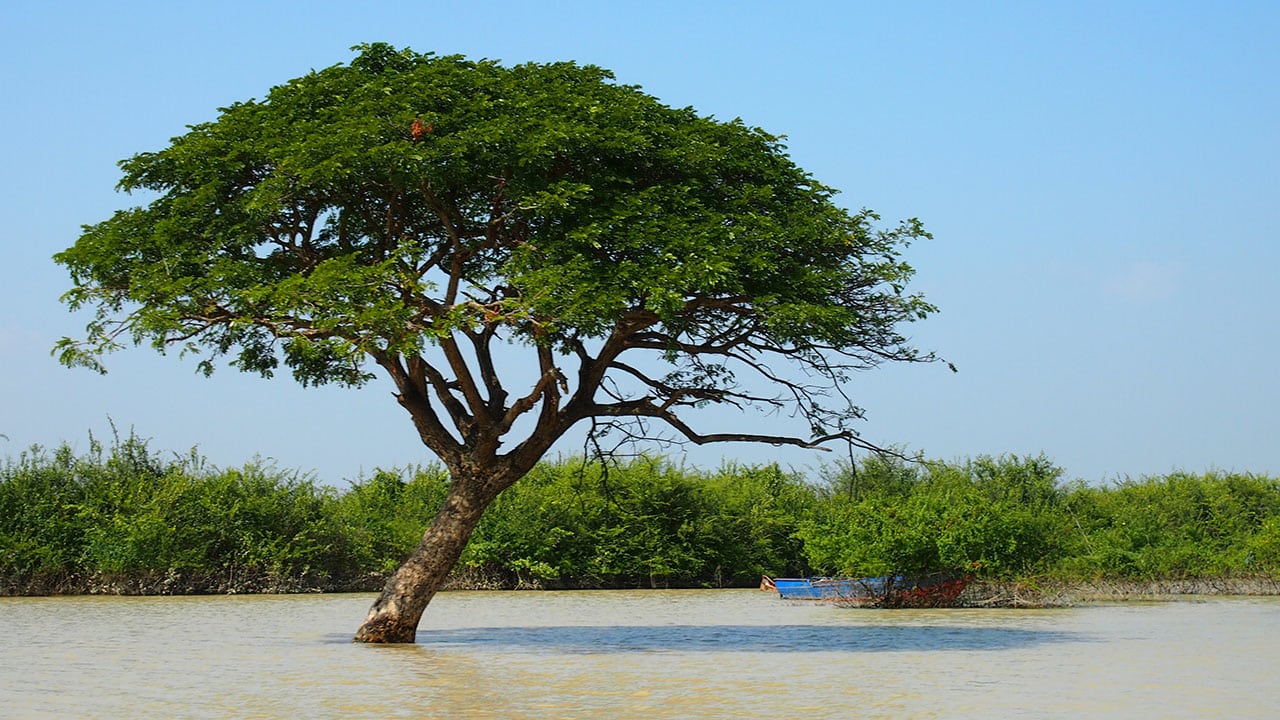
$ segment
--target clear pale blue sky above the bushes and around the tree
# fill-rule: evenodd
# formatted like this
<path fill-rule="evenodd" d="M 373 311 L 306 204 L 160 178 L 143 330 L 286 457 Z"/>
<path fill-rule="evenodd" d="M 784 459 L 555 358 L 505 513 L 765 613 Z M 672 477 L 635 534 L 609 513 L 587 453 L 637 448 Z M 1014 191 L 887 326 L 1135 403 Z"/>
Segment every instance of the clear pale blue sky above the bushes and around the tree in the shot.
<path fill-rule="evenodd" d="M 389 387 L 302 389 L 147 348 L 110 374 L 54 342 L 84 318 L 54 252 L 133 204 L 115 163 L 358 42 L 613 69 L 671 105 L 783 133 L 886 222 L 919 217 L 918 346 L 852 395 L 872 441 L 1039 454 L 1089 482 L 1280 474 L 1277 3 L 36 3 L 0 9 L 0 455 L 253 455 L 340 483 L 430 460 Z M 771 420 L 773 421 L 773 420 Z M 799 429 L 797 429 L 799 432 Z M 576 447 L 566 446 L 563 452 Z M 719 446 L 689 461 L 824 454 Z"/>

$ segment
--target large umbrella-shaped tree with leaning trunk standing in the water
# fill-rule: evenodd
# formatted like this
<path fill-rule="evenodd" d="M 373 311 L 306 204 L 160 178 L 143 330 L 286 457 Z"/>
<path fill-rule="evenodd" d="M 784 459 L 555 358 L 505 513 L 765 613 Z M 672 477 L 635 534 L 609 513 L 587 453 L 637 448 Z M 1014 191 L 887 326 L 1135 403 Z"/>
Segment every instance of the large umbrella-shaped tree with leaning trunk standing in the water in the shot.
<path fill-rule="evenodd" d="M 96 307 L 55 352 L 390 378 L 451 486 L 357 641 L 412 642 L 484 509 L 575 425 L 600 452 L 869 446 L 847 374 L 933 359 L 899 331 L 934 310 L 904 287 L 920 223 L 838 208 L 777 136 L 596 67 L 356 50 L 122 161 L 120 187 L 155 197 L 55 256 L 64 300 Z M 708 405 L 809 433 L 704 433 Z"/>

